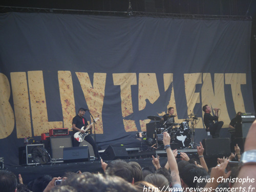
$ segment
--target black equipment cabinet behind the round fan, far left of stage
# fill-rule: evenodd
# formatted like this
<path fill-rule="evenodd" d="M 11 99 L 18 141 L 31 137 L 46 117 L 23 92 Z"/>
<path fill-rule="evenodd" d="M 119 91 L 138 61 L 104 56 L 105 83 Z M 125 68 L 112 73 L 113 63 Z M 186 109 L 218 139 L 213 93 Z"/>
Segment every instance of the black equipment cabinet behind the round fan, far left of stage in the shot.
<path fill-rule="evenodd" d="M 26 146 L 21 146 L 18 149 L 19 164 L 20 165 L 35 165 L 38 164 L 34 162 L 31 151 L 35 147 L 44 147 L 44 144 L 29 144 Z"/>

